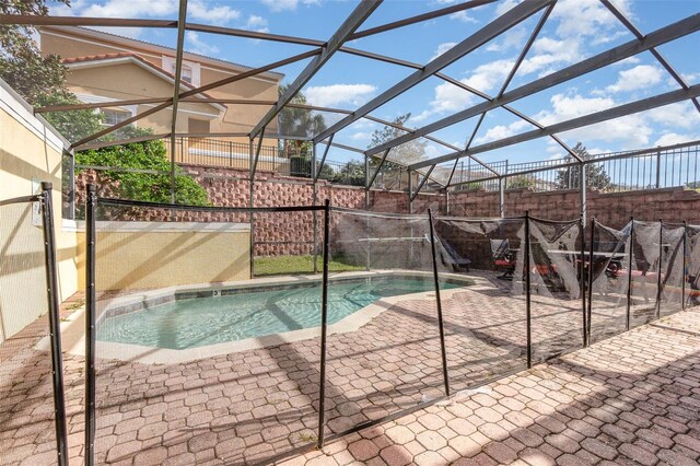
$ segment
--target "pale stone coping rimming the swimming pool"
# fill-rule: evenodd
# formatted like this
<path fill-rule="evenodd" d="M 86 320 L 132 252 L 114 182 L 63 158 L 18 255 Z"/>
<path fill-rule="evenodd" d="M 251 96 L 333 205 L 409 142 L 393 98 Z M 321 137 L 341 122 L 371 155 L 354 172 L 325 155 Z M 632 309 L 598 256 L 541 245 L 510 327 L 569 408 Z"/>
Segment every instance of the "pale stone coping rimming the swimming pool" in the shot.
<path fill-rule="evenodd" d="M 392 277 L 392 276 L 412 276 L 412 277 L 432 277 L 432 272 L 415 271 L 415 270 L 377 270 L 377 271 L 352 271 L 337 273 L 329 280 L 338 281 L 353 278 L 368 277 Z M 480 284 L 482 279 L 479 277 L 458 275 L 458 273 L 441 273 L 441 280 L 450 279 L 453 281 L 469 282 L 471 287 Z M 210 292 L 214 290 L 226 289 L 248 289 L 248 288 L 267 288 L 270 284 L 288 286 L 303 282 L 320 281 L 320 276 L 284 276 L 284 277 L 266 277 L 254 280 L 241 280 L 222 283 L 200 283 L 191 286 L 168 287 L 159 290 L 149 290 L 137 292 L 127 296 L 117 296 L 105 299 L 97 303 L 97 321 L 105 318 L 106 313 L 115 306 L 131 305 L 133 303 L 144 303 L 156 305 L 168 301 L 175 293 L 196 293 Z M 470 287 L 470 288 L 471 288 Z M 463 292 L 463 288 L 454 288 L 440 290 L 443 299 L 452 298 L 455 292 Z M 360 327 L 371 322 L 373 318 L 382 314 L 385 310 L 400 303 L 401 301 L 416 300 L 420 298 L 434 298 L 435 291 L 424 291 L 419 293 L 401 294 L 398 296 L 383 298 L 374 303 L 364 306 L 354 313 L 343 317 L 335 324 L 328 325 L 327 335 L 346 334 L 357 331 Z M 174 299 L 174 298 L 173 298 Z M 85 312 L 84 307 L 71 314 L 71 316 L 61 322 L 61 339 L 66 352 L 75 356 L 85 356 Z M 221 343 L 207 345 L 188 349 L 168 349 L 153 348 L 140 345 L 119 343 L 110 341 L 100 341 L 96 351 L 96 359 L 117 360 L 125 362 L 137 362 L 143 364 L 176 364 L 196 361 L 205 358 L 226 356 L 230 353 L 264 349 L 271 346 L 291 343 L 302 341 L 320 336 L 320 326 L 303 328 L 299 330 L 284 331 L 281 334 L 267 335 L 262 337 L 246 338 L 237 341 L 225 341 Z M 50 342 L 48 337 L 43 338 L 36 345 L 38 350 L 48 350 Z"/>

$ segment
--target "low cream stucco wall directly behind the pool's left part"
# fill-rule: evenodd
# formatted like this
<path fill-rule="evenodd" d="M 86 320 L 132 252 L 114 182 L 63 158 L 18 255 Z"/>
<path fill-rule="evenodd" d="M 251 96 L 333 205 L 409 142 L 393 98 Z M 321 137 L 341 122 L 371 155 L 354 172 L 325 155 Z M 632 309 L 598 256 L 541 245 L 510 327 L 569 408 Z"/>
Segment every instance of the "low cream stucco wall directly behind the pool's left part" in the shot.
<path fill-rule="evenodd" d="M 249 232 L 243 223 L 97 222 L 97 290 L 248 279 Z M 84 258 L 84 231 L 78 237 L 79 255 Z M 83 260 L 79 277 L 84 287 Z"/>

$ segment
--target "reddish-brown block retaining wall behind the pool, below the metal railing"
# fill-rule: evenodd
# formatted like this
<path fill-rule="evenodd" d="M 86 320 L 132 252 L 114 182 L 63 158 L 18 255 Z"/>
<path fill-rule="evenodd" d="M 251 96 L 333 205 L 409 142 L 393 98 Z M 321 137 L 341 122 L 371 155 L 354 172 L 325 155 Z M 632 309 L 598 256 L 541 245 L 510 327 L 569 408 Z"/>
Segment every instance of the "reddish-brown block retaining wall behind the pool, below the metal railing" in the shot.
<path fill-rule="evenodd" d="M 233 168 L 188 165 L 184 168 L 207 190 L 214 206 L 248 207 L 249 184 L 247 172 Z M 83 171 L 75 177 L 77 205 L 84 202 L 86 183 L 100 185 L 98 176 Z M 100 195 L 112 195 L 114 187 L 100 186 Z M 311 206 L 314 189 L 307 178 L 276 176 L 260 172 L 256 176 L 254 206 Z M 332 206 L 364 209 L 364 189 L 332 186 L 325 180 L 317 185 L 317 202 L 329 199 Z M 408 212 L 408 196 L 401 191 L 373 190 L 370 193 L 370 210 L 383 212 Z M 444 213 L 446 198 L 442 194 L 421 194 L 413 200 L 413 212 L 424 213 L 430 208 L 434 213 Z M 580 194 L 576 190 L 533 193 L 527 189 L 510 190 L 505 194 L 506 215 L 522 215 L 525 211 L 534 217 L 551 220 L 579 218 Z M 141 212 L 143 213 L 143 212 Z M 450 195 L 450 214 L 457 217 L 498 217 L 499 195 L 487 191 L 463 191 Z M 682 188 L 649 191 L 600 194 L 588 193 L 588 215 L 602 223 L 620 228 L 630 215 L 638 220 L 658 220 L 700 223 L 700 193 Z M 148 212 L 143 219 L 165 220 L 164 212 Z M 177 215 L 183 221 L 248 221 L 247 214 L 201 214 L 186 212 Z M 323 217 L 318 217 L 322 225 Z M 258 213 L 255 215 L 255 240 L 257 255 L 310 254 L 313 251 L 314 221 L 311 212 Z M 319 232 L 322 231 L 319 226 Z M 300 243 L 301 242 L 301 243 Z"/>

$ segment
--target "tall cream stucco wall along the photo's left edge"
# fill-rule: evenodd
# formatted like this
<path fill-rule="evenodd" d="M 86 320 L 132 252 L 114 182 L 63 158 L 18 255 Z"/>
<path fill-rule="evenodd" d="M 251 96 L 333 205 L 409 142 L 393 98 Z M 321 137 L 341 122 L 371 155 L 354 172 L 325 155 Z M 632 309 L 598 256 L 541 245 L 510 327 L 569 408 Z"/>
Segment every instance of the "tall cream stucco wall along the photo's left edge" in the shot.
<path fill-rule="evenodd" d="M 35 182 L 54 184 L 54 218 L 61 300 L 78 289 L 75 233 L 61 218 L 61 153 L 65 141 L 35 118 L 26 103 L 0 82 L 0 199 L 30 196 Z M 0 341 L 46 312 L 42 231 L 31 206 L 0 212 Z"/>

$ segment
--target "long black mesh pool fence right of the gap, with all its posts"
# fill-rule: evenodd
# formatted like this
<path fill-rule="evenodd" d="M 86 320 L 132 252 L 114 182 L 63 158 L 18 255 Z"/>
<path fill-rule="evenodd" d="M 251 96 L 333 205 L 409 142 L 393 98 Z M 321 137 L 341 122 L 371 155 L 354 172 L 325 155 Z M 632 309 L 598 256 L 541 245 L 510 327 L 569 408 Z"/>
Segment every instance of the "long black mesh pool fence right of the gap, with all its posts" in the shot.
<path fill-rule="evenodd" d="M 690 225 L 91 193 L 89 464 L 270 463 L 697 301 Z"/>

